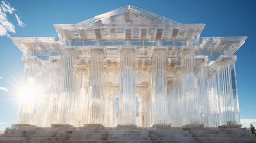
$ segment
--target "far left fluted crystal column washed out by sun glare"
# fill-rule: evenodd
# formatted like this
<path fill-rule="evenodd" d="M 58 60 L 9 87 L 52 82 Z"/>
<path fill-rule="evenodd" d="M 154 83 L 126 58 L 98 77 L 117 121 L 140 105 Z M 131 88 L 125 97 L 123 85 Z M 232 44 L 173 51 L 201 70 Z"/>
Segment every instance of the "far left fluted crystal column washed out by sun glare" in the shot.
<path fill-rule="evenodd" d="M 17 123 L 37 125 L 38 73 L 41 61 L 36 56 L 25 57 L 22 91 Z"/>

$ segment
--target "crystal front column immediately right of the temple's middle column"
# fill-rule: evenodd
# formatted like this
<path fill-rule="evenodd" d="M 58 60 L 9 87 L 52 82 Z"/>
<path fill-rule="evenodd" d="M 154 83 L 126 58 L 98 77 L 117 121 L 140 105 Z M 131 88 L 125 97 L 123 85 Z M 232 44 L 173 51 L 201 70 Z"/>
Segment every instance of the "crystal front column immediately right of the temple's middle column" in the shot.
<path fill-rule="evenodd" d="M 152 123 L 167 124 L 168 106 L 166 91 L 166 64 L 165 52 L 155 50 L 152 57 Z"/>

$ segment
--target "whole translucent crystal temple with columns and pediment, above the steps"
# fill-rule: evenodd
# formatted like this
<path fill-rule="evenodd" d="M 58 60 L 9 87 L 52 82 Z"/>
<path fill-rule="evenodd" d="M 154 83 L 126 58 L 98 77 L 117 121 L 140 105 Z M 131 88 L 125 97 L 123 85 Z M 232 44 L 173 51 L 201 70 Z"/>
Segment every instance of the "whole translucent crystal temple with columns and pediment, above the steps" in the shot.
<path fill-rule="evenodd" d="M 25 63 L 18 123 L 239 125 L 247 37 L 200 37 L 204 26 L 128 5 L 54 24 L 58 37 L 11 37 Z"/>

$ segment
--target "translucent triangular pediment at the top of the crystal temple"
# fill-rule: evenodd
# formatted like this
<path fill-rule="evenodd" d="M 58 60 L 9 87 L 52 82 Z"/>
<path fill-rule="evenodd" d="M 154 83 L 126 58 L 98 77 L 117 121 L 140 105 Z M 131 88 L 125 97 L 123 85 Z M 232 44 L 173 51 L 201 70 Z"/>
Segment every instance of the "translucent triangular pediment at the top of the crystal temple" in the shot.
<path fill-rule="evenodd" d="M 161 15 L 126 5 L 78 24 L 180 24 Z"/>

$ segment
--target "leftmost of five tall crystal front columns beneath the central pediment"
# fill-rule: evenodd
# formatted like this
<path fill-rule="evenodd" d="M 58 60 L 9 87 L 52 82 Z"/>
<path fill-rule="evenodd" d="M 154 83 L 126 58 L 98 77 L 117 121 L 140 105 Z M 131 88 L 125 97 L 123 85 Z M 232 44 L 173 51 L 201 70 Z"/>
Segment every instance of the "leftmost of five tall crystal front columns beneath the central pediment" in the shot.
<path fill-rule="evenodd" d="M 74 120 L 74 68 L 76 56 L 73 51 L 67 50 L 62 53 L 63 75 L 61 83 L 61 96 L 59 100 L 60 112 L 59 123 L 71 123 Z"/>

